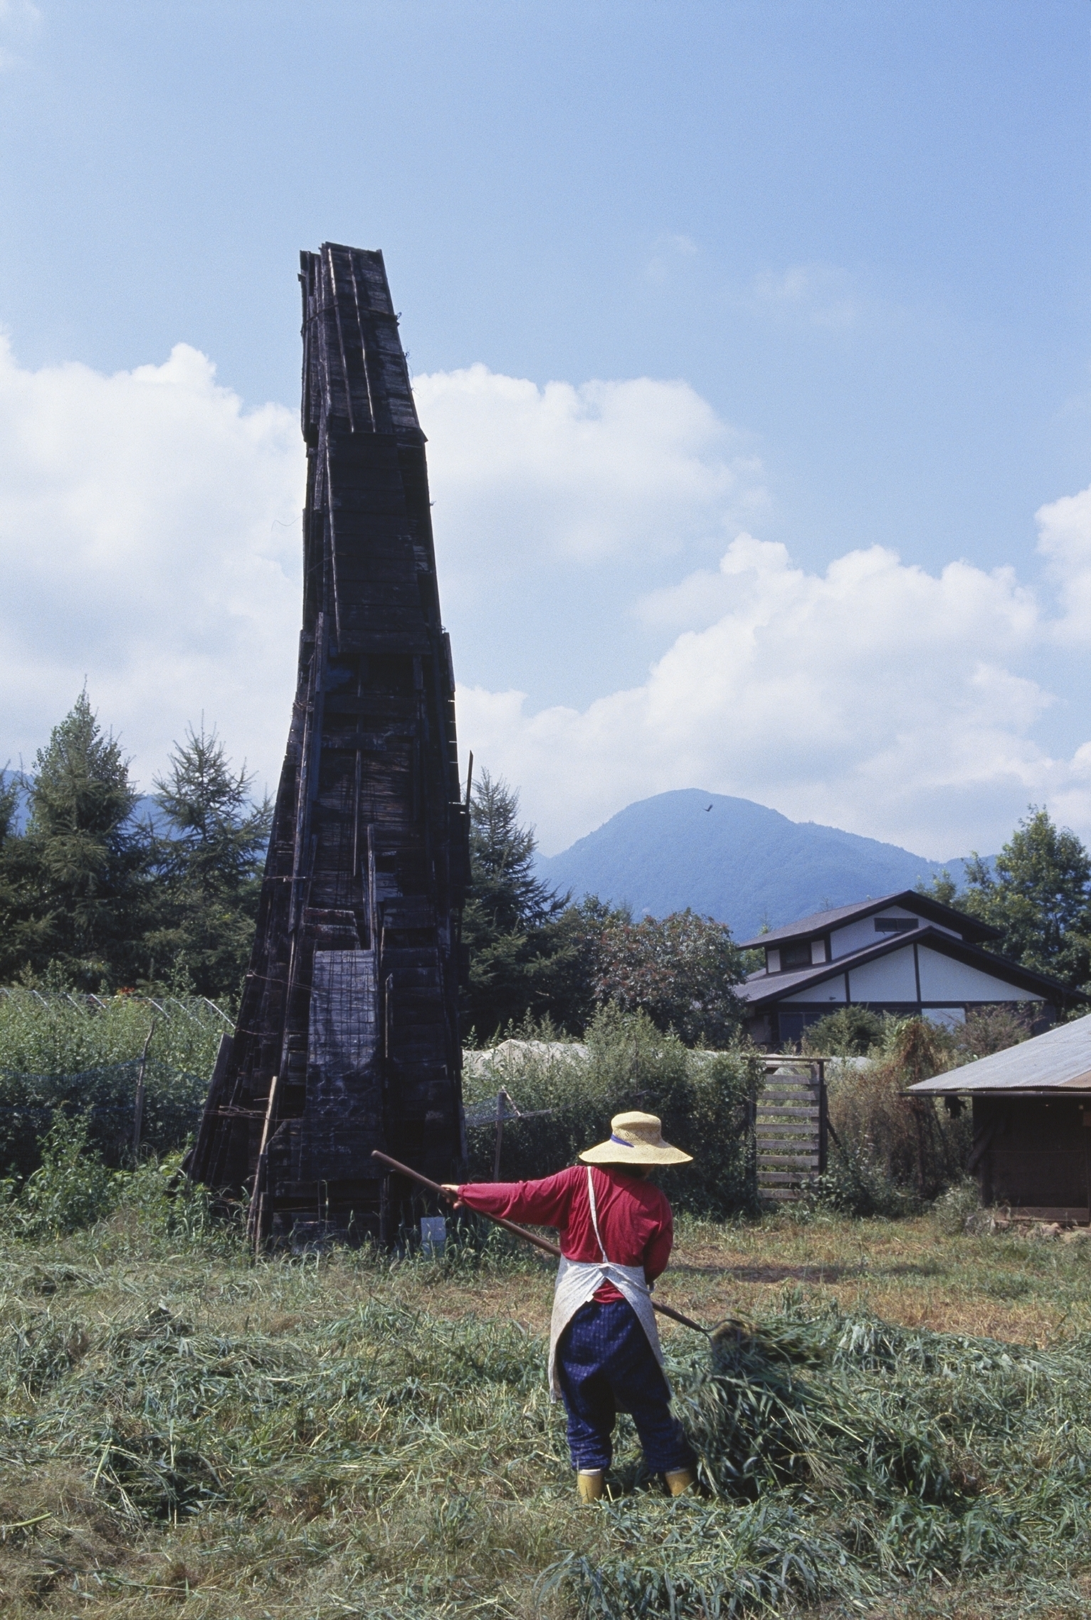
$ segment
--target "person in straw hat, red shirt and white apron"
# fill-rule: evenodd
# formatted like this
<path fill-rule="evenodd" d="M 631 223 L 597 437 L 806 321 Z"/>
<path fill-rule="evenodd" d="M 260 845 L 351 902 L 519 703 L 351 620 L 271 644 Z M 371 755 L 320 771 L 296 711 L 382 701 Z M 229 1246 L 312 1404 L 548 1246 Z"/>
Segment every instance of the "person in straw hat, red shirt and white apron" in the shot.
<path fill-rule="evenodd" d="M 557 1270 L 549 1333 L 549 1387 L 568 1413 L 568 1448 L 583 1502 L 605 1492 L 613 1422 L 628 1411 L 652 1473 L 672 1495 L 696 1484 L 694 1456 L 670 1411 L 651 1288 L 670 1259 L 670 1204 L 647 1176 L 691 1155 L 664 1142 L 656 1115 L 610 1119 L 610 1137 L 579 1155 L 583 1165 L 544 1181 L 474 1181 L 445 1186 L 458 1209 L 557 1226 Z"/>

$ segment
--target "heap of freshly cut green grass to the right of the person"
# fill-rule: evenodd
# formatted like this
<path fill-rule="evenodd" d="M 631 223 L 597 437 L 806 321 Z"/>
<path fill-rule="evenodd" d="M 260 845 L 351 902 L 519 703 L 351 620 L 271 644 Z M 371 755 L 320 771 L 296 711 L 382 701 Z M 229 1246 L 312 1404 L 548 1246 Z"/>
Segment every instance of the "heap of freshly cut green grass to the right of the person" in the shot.
<path fill-rule="evenodd" d="M 983 1571 L 1057 1580 L 1091 1552 L 1088 1371 L 1085 1343 L 1046 1354 L 866 1319 L 766 1322 L 677 1380 L 704 1503 L 643 1550 L 623 1507 L 613 1557 L 571 1554 L 546 1583 L 630 1620 L 851 1604 Z"/>

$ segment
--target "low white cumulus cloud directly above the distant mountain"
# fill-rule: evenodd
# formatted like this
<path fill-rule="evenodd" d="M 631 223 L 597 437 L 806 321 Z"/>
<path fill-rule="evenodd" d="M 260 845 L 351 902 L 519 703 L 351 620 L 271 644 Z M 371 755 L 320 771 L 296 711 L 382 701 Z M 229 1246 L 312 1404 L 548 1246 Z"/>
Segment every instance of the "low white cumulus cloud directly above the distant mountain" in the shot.
<path fill-rule="evenodd" d="M 872 546 L 808 573 L 740 535 L 652 608 L 701 627 L 638 687 L 539 713 L 461 695 L 463 735 L 523 786 L 547 849 L 681 786 L 940 857 L 991 847 L 1031 799 L 1091 831 L 1091 745 L 1065 760 L 1034 737 L 1054 698 L 1020 664 L 1054 625 L 1010 569 L 931 575 Z"/>

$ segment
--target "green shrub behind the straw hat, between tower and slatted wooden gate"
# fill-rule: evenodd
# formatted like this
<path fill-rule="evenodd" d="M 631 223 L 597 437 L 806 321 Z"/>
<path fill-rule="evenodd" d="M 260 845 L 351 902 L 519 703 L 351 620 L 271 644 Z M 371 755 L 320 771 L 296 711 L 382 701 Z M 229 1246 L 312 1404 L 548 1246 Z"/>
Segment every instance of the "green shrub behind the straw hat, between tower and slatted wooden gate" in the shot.
<path fill-rule="evenodd" d="M 612 1115 L 641 1108 L 659 1115 L 664 1136 L 694 1155 L 693 1165 L 657 1176 L 678 1209 L 720 1217 L 754 1207 L 756 1053 L 691 1051 L 677 1035 L 657 1030 L 646 1013 L 622 1013 L 609 1003 L 596 1011 L 583 1045 L 557 1040 L 549 1025 L 524 1025 L 520 1034 L 523 1040 L 503 1043 L 465 1076 L 468 1106 L 503 1085 L 526 1113 L 549 1110 L 505 1129 L 505 1181 L 575 1163 L 581 1149 L 609 1136 Z M 473 1179 L 490 1179 L 492 1152 L 492 1131 L 469 1132 Z"/>

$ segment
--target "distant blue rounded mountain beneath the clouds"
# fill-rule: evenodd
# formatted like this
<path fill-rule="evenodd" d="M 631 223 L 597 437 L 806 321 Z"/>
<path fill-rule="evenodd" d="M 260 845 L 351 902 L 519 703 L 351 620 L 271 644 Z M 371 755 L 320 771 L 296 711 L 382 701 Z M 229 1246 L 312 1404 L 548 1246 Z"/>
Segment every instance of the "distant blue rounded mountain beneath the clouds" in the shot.
<path fill-rule="evenodd" d="M 712 808 L 709 808 L 709 805 Z M 618 810 L 537 870 L 575 897 L 628 902 L 639 917 L 693 910 L 730 923 L 737 940 L 809 912 L 911 889 L 965 860 L 926 860 L 897 844 L 788 816 L 749 799 L 685 787 Z"/>

